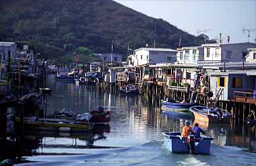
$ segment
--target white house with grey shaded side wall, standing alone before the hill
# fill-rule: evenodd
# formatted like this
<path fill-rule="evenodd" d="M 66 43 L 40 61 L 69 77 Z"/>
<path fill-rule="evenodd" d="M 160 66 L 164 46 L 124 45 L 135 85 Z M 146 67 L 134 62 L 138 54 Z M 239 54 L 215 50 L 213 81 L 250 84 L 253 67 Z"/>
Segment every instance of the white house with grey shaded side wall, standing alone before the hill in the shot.
<path fill-rule="evenodd" d="M 157 63 L 174 63 L 177 50 L 169 48 L 139 48 L 135 50 L 133 66 Z"/>

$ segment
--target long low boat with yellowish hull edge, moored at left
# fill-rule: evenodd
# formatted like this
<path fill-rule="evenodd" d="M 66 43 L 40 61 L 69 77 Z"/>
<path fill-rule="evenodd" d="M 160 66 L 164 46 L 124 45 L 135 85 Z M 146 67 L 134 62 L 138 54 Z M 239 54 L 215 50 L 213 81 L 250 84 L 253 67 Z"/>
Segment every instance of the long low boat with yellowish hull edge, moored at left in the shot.
<path fill-rule="evenodd" d="M 25 128 L 31 130 L 46 130 L 55 132 L 86 132 L 92 129 L 92 124 L 80 124 L 76 120 L 30 117 L 15 118 L 16 124 L 24 124 Z"/>

